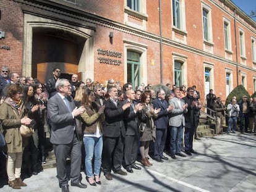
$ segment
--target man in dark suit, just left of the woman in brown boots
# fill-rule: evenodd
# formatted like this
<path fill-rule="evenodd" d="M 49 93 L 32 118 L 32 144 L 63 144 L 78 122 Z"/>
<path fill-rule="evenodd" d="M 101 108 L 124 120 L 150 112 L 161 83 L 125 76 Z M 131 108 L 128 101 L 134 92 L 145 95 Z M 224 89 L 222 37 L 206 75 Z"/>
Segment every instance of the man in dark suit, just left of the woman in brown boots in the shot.
<path fill-rule="evenodd" d="M 142 104 L 136 104 L 134 90 L 126 91 L 126 102 L 130 102 L 130 107 L 124 112 L 124 126 L 126 127 L 126 138 L 124 139 L 124 167 L 127 172 L 133 173 L 133 169 L 141 169 L 135 165 L 139 144 L 139 119 L 138 115 L 142 111 Z"/>

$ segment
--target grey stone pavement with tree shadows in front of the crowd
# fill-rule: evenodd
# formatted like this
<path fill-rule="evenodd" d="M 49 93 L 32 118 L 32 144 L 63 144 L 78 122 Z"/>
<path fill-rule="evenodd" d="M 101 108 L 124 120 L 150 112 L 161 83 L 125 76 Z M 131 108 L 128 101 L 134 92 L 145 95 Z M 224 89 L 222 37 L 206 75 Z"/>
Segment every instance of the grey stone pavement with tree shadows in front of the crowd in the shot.
<path fill-rule="evenodd" d="M 90 186 L 83 175 L 87 189 L 69 186 L 72 191 L 256 191 L 256 136 L 245 134 L 220 135 L 194 142 L 198 154 L 176 160 L 153 163 L 126 176 L 113 173 L 108 181 L 101 175 L 101 185 Z M 137 162 L 140 165 L 140 162 Z M 12 190 L 4 185 L 0 191 L 61 191 L 56 169 L 46 169 L 25 179 L 27 187 Z"/>

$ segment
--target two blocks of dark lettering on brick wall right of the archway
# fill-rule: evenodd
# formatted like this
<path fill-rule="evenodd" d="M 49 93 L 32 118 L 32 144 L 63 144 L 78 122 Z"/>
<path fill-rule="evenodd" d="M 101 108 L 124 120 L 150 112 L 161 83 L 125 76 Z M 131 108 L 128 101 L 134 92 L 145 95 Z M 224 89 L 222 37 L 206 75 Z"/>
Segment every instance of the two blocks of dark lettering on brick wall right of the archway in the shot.
<path fill-rule="evenodd" d="M 116 52 L 116 51 L 109 51 L 106 49 L 97 49 L 98 56 L 108 56 L 108 57 L 116 57 L 121 58 L 122 52 Z M 97 59 L 100 61 L 101 64 L 109 64 L 109 65 L 120 65 L 122 64 L 122 61 L 119 59 L 110 59 L 107 57 L 97 57 Z"/>

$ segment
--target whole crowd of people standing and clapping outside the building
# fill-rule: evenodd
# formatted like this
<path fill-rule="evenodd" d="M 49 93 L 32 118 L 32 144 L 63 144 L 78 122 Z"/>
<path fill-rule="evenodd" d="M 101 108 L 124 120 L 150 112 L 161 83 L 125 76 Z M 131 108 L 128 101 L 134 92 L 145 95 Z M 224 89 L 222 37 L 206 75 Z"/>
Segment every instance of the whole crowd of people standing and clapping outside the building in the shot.
<path fill-rule="evenodd" d="M 87 188 L 81 182 L 80 170 L 87 182 L 101 185 L 100 173 L 113 180 L 111 172 L 119 175 L 140 170 L 137 161 L 140 151 L 141 164 L 150 167 L 150 143 L 153 142 L 151 159 L 164 162 L 164 150 L 172 159 L 197 153 L 193 140 L 197 138 L 200 93 L 197 87 L 170 83 L 153 89 L 142 83 L 133 89 L 132 83 L 121 86 L 109 79 L 104 83 L 87 78 L 79 81 L 78 75 L 70 80 L 60 78 L 61 70 L 53 69 L 53 77 L 46 84 L 32 77 L 19 77 L 2 67 L 0 78 L 0 120 L 6 140 L 8 184 L 14 189 L 27 186 L 21 174 L 36 175 L 46 163 L 46 132 L 56 156 L 59 186 L 69 191 L 71 186 Z M 227 107 L 216 98 L 213 90 L 207 95 L 209 113 L 216 112 L 216 133 L 222 133 L 222 118 L 229 114 L 228 133 L 236 131 L 237 116 L 249 127 L 249 111 L 256 120 L 256 98 L 243 99 L 236 104 L 233 98 Z M 211 104 L 208 105 L 208 98 Z M 34 133 L 22 137 L 20 125 L 28 125 Z M 241 124 L 242 125 L 242 124 Z M 242 126 L 241 126 L 242 127 Z M 184 138 L 184 152 L 182 140 Z M 67 158 L 70 159 L 70 178 L 67 178 Z"/>

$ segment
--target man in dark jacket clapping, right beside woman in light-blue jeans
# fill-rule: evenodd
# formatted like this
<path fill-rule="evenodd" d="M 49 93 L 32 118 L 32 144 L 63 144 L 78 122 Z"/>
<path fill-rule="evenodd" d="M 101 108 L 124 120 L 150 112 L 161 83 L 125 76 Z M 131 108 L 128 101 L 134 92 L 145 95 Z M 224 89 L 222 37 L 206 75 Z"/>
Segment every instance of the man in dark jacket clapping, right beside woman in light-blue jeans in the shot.
<path fill-rule="evenodd" d="M 107 180 L 113 180 L 111 169 L 114 173 L 127 175 L 121 169 L 124 152 L 124 111 L 130 107 L 130 102 L 123 104 L 118 101 L 116 86 L 108 88 L 109 99 L 105 101 L 105 125 L 103 130 L 103 158 L 102 167 Z"/>

